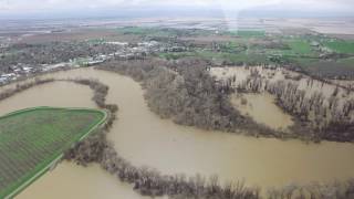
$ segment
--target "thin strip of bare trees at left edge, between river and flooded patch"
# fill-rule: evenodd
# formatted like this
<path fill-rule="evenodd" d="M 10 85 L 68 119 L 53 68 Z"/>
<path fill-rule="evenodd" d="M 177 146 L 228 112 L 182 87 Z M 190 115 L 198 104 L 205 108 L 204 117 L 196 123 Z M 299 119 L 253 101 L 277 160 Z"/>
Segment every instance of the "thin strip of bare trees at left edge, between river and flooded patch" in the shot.
<path fill-rule="evenodd" d="M 27 83 L 22 83 L 22 84 L 18 83 L 18 84 L 15 84 L 14 88 L 8 88 L 8 90 L 4 90 L 3 92 L 1 92 L 0 93 L 0 101 L 8 98 L 8 97 L 11 97 L 12 95 L 20 93 L 24 90 L 34 87 L 40 84 L 50 83 L 50 82 L 54 82 L 54 78 L 45 78 L 45 80 L 34 78 L 34 81 L 31 81 L 31 82 L 27 82 Z"/>

